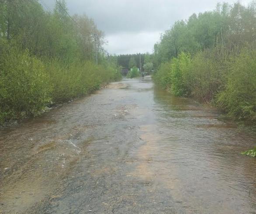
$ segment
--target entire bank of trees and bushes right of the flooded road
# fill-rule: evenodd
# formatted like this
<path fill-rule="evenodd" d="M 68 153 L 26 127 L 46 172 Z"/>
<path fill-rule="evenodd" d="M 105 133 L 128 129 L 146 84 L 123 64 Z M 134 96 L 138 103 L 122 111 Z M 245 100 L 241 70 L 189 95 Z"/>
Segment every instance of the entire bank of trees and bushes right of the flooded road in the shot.
<path fill-rule="evenodd" d="M 154 46 L 154 80 L 176 96 L 256 123 L 256 2 L 218 4 L 177 21 Z"/>

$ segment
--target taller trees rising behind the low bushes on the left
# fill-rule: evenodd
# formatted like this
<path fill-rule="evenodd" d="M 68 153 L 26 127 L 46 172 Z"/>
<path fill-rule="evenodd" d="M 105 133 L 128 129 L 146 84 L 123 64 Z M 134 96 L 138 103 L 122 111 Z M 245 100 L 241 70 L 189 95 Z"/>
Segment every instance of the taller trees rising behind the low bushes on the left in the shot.
<path fill-rule="evenodd" d="M 103 32 L 85 15 L 73 17 L 78 26 L 64 11 L 65 1 L 59 3 L 62 6 L 56 3 L 49 13 L 37 0 L 0 1 L 0 38 L 16 41 L 34 55 L 95 60 L 104 43 Z"/>

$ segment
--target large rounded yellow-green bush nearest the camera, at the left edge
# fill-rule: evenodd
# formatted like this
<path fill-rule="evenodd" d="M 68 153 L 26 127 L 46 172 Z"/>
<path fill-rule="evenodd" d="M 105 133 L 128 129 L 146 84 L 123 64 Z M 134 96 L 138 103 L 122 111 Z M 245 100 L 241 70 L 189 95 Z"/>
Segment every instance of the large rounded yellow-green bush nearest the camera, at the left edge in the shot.
<path fill-rule="evenodd" d="M 0 122 L 36 115 L 51 101 L 52 85 L 45 66 L 28 51 L 1 43 Z"/>

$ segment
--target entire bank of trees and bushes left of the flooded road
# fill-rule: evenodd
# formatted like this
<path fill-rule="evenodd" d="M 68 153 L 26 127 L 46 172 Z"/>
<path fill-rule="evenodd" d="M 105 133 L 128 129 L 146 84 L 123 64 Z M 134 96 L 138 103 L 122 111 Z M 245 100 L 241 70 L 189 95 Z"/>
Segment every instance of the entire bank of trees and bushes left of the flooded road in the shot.
<path fill-rule="evenodd" d="M 104 82 L 121 78 L 86 15 L 70 17 L 64 0 L 0 0 L 0 123 L 37 115 Z"/>

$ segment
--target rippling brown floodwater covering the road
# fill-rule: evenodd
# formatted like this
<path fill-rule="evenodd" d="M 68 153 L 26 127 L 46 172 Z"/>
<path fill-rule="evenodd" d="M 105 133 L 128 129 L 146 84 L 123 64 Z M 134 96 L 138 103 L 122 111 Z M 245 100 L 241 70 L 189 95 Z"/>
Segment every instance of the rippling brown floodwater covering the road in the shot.
<path fill-rule="evenodd" d="M 219 118 L 145 77 L 2 128 L 0 213 L 256 213 L 256 135 Z"/>

